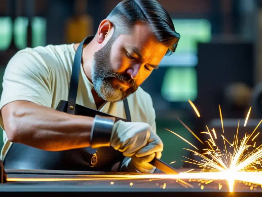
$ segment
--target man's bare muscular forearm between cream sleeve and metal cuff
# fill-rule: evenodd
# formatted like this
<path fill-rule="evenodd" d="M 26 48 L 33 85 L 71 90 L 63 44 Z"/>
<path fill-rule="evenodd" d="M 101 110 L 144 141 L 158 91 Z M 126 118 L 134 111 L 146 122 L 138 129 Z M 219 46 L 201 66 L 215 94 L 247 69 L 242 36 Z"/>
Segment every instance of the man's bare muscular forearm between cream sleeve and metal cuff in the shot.
<path fill-rule="evenodd" d="M 2 108 L 2 116 L 12 142 L 48 151 L 90 146 L 92 117 L 71 115 L 26 101 L 7 104 Z"/>

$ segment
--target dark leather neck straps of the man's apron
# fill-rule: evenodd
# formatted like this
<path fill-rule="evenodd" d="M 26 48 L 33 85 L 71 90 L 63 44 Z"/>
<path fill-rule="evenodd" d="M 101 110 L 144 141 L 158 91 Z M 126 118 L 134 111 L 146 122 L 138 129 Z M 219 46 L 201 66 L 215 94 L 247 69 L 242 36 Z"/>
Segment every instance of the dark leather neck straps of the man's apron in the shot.
<path fill-rule="evenodd" d="M 75 52 L 74 63 L 72 67 L 72 75 L 69 86 L 69 94 L 68 94 L 68 107 L 67 113 L 75 114 L 75 104 L 77 100 L 77 90 L 78 90 L 78 82 L 79 82 L 79 73 L 80 66 L 82 62 L 82 52 L 83 46 L 91 42 L 94 36 L 86 37 L 78 46 L 77 51 Z M 124 100 L 124 108 L 125 108 L 125 116 L 127 120 L 131 121 L 130 110 L 128 106 L 127 98 Z"/>

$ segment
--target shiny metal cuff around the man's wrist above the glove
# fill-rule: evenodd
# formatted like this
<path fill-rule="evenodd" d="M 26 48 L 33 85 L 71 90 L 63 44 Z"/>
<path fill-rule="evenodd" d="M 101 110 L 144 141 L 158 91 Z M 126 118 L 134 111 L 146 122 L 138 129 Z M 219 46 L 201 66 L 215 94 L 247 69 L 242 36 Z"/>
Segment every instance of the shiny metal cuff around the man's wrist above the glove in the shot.
<path fill-rule="evenodd" d="M 110 146 L 114 122 L 114 117 L 95 116 L 90 136 L 91 148 Z"/>

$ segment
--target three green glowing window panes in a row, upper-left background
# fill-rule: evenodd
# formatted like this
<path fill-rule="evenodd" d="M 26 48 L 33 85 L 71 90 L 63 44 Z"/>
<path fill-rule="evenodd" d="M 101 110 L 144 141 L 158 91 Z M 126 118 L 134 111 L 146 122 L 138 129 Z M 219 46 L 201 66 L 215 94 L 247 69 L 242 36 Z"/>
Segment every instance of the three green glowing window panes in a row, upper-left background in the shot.
<path fill-rule="evenodd" d="M 14 20 L 12 28 L 12 20 L 10 17 L 0 18 L 0 50 L 7 50 L 12 38 L 12 30 L 14 33 L 14 42 L 18 49 L 27 47 L 27 27 L 28 19 L 26 17 L 17 17 Z M 32 27 L 32 47 L 46 45 L 46 19 L 42 17 L 34 17 L 31 23 Z"/>

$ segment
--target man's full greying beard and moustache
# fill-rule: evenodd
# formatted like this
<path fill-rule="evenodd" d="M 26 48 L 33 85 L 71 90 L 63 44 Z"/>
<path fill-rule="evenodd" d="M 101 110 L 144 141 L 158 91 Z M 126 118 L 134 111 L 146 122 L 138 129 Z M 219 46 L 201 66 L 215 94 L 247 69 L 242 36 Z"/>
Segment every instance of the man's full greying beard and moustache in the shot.
<path fill-rule="evenodd" d="M 124 100 L 138 89 L 135 81 L 127 73 L 120 74 L 115 73 L 112 70 L 112 66 L 110 64 L 110 51 L 115 40 L 114 38 L 116 37 L 112 35 L 108 43 L 94 54 L 91 73 L 94 89 L 98 96 L 103 98 L 103 100 L 110 102 Z M 129 88 L 124 91 L 121 85 L 112 87 L 113 79 L 118 79 L 119 81 L 127 84 Z"/>

